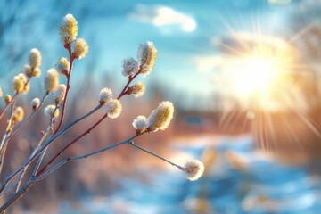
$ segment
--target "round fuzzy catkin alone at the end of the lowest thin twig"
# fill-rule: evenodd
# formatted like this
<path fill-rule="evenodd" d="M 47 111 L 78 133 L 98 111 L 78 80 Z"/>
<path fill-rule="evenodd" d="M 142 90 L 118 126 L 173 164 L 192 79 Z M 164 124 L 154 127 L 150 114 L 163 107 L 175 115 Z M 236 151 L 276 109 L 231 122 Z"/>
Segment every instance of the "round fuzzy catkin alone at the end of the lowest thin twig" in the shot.
<path fill-rule="evenodd" d="M 202 177 L 204 172 L 204 165 L 201 161 L 196 159 L 189 159 L 184 163 L 184 169 L 186 172 L 187 179 L 190 181 L 195 181 L 198 178 Z"/>

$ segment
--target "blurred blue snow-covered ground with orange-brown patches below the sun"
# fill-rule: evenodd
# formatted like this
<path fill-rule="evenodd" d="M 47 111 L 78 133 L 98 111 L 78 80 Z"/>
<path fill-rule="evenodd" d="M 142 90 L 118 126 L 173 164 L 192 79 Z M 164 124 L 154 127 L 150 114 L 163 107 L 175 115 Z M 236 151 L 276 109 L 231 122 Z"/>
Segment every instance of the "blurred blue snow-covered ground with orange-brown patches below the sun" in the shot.
<path fill-rule="evenodd" d="M 197 144 L 175 142 L 173 148 L 177 157 L 204 162 L 198 181 L 173 168 L 146 170 L 149 182 L 123 178 L 112 196 L 82 196 L 77 207 L 61 202 L 59 213 L 321 213 L 321 177 L 306 166 L 256 151 L 247 136 L 193 140 Z"/>

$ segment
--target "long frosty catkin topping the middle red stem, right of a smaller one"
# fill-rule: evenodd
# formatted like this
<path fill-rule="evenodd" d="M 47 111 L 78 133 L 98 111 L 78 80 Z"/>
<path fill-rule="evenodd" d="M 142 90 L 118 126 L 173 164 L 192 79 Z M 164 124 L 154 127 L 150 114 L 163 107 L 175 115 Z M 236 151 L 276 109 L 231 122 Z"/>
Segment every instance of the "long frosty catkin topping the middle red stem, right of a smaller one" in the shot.
<path fill-rule="evenodd" d="M 152 42 L 146 42 L 138 47 L 137 61 L 141 67 L 141 73 L 144 76 L 148 76 L 155 65 L 157 58 L 157 50 Z"/>

